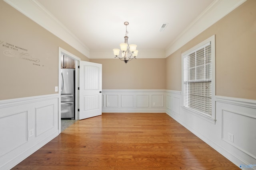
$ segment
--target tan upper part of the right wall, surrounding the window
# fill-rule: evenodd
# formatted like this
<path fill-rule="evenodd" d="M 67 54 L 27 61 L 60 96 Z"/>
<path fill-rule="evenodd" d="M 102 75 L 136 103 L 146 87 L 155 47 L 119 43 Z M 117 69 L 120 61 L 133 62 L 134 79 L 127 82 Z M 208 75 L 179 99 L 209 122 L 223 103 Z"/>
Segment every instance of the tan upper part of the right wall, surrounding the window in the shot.
<path fill-rule="evenodd" d="M 216 95 L 256 100 L 255 9 L 256 0 L 244 2 L 170 55 L 166 59 L 166 88 L 181 90 L 181 54 L 215 34 Z"/>

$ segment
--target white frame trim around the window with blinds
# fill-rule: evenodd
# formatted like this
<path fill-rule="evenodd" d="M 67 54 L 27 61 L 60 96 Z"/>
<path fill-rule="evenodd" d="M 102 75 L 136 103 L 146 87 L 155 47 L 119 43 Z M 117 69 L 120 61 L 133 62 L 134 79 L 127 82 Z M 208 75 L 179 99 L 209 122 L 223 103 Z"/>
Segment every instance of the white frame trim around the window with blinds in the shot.
<path fill-rule="evenodd" d="M 211 42 L 211 62 L 212 62 L 212 66 L 211 66 L 211 69 L 212 69 L 212 94 L 211 94 L 211 97 L 212 97 L 212 114 L 209 115 L 209 114 L 206 114 L 206 113 L 202 113 L 201 111 L 196 111 L 194 109 L 190 109 L 188 107 L 185 107 L 184 106 L 184 56 L 188 55 L 188 54 L 191 54 L 197 50 L 200 49 L 200 47 L 204 46 L 205 44 Z M 181 59 L 182 59 L 182 91 L 181 91 L 181 95 L 182 95 L 182 108 L 187 111 L 188 113 L 192 113 L 198 117 L 201 117 L 207 121 L 210 121 L 211 123 L 214 123 L 216 122 L 216 113 L 215 113 L 215 35 L 212 35 L 211 37 L 209 37 L 208 39 L 202 41 L 201 43 L 195 45 L 194 47 L 190 48 L 189 50 L 185 51 L 184 53 L 182 53 L 181 55 Z"/>

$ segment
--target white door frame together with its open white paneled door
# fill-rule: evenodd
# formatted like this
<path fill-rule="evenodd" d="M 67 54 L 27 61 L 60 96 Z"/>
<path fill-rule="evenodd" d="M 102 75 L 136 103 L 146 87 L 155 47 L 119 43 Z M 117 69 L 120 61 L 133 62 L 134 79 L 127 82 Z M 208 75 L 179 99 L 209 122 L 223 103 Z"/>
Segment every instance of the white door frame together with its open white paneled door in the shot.
<path fill-rule="evenodd" d="M 75 61 L 75 120 L 102 114 L 102 64 L 81 61 L 80 58 L 59 47 L 59 89 L 61 88 L 61 57 L 65 55 Z M 58 123 L 61 133 L 61 92 L 58 92 Z"/>

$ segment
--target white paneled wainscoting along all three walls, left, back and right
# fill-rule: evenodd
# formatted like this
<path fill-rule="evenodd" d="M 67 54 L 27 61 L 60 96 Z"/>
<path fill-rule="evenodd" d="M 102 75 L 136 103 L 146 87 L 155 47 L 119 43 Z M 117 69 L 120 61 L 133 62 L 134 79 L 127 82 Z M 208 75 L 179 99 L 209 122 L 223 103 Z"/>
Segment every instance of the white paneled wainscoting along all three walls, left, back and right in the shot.
<path fill-rule="evenodd" d="M 102 90 L 102 112 L 167 113 L 238 167 L 256 169 L 256 100 L 215 98 L 214 123 L 184 109 L 181 92 L 173 90 Z M 60 132 L 58 94 L 2 100 L 0 113 L 0 170 L 12 168 Z"/>

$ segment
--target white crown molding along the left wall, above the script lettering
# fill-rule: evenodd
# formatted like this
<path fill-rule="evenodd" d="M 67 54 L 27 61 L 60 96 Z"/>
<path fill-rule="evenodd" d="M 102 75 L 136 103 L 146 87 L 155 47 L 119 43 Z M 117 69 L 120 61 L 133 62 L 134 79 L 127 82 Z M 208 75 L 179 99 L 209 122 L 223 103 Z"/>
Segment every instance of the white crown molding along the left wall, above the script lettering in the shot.
<path fill-rule="evenodd" d="M 62 39 L 80 53 L 90 58 L 86 47 L 68 28 L 48 12 L 37 0 L 4 0 L 10 6 L 38 23 L 58 38 Z"/>

